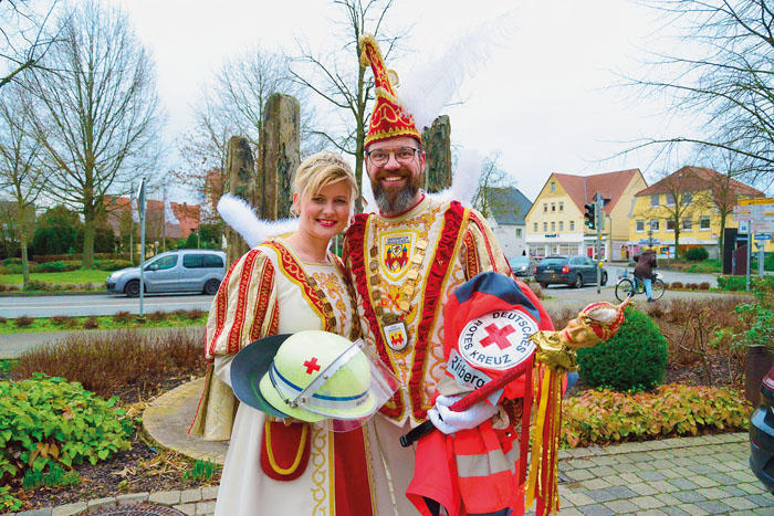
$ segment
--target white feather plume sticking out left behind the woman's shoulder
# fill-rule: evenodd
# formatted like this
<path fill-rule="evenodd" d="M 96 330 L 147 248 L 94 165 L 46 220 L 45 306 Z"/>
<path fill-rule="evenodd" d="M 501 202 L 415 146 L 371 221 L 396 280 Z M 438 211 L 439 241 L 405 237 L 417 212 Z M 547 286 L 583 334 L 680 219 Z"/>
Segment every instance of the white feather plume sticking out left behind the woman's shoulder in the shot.
<path fill-rule="evenodd" d="M 250 248 L 272 236 L 291 233 L 299 229 L 299 219 L 261 220 L 244 200 L 226 193 L 218 201 L 218 213 Z"/>

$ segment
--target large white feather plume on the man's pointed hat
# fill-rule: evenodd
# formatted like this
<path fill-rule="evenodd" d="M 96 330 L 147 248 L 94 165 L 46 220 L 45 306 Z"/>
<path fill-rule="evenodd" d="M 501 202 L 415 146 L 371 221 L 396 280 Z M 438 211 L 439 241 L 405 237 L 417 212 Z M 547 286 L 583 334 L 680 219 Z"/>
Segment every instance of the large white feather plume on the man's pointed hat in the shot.
<path fill-rule="evenodd" d="M 505 40 L 515 25 L 515 11 L 488 20 L 470 33 L 457 38 L 454 44 L 438 59 L 400 74 L 398 98 L 419 131 L 430 127 L 441 109 L 458 93 L 466 77 L 473 75 L 489 57 L 491 50 Z"/>

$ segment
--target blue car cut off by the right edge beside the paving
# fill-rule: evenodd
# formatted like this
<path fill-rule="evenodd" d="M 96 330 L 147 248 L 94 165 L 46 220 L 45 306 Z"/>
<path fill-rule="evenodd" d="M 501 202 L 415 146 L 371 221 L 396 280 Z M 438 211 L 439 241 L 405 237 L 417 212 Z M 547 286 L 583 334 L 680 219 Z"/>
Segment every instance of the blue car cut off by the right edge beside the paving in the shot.
<path fill-rule="evenodd" d="M 750 417 L 750 468 L 774 493 L 774 368 L 761 382 L 761 401 Z"/>

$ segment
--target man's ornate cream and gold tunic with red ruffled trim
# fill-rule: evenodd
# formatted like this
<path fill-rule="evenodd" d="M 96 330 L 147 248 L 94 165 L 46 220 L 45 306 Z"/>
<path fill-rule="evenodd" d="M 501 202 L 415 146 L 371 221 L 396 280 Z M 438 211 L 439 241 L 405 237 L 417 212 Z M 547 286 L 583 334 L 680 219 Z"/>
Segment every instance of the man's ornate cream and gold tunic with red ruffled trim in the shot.
<path fill-rule="evenodd" d="M 442 308 L 449 293 L 480 272 L 510 274 L 510 266 L 478 212 L 429 197 L 398 217 L 357 215 L 343 257 L 364 337 L 402 385 L 381 413 L 399 425 L 421 423 L 446 370 Z M 406 325 L 404 349 L 387 341 L 388 314 Z"/>

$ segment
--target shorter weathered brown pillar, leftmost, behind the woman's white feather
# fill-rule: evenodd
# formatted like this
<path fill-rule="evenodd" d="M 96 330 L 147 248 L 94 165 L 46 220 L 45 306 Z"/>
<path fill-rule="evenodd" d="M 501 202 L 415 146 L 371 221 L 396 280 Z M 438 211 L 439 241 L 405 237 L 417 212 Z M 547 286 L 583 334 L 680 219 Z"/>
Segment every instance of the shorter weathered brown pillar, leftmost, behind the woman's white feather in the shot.
<path fill-rule="evenodd" d="M 226 170 L 229 180 L 229 192 L 254 206 L 251 183 L 255 177 L 255 161 L 252 158 L 250 143 L 243 136 L 232 136 L 226 150 Z M 227 259 L 229 266 L 249 251 L 247 242 L 239 233 L 226 227 L 228 242 Z"/>

